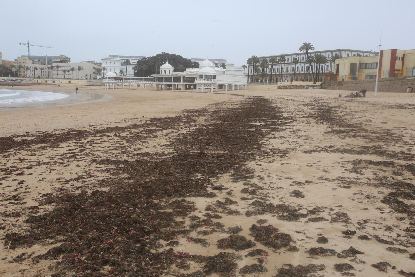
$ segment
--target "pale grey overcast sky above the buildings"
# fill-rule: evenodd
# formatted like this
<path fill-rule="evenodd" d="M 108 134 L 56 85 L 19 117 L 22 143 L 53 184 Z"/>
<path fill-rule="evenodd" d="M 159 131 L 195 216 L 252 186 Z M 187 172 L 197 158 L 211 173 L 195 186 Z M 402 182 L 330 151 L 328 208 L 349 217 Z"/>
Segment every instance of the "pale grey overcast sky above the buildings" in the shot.
<path fill-rule="evenodd" d="M 108 55 L 227 59 L 316 50 L 414 49 L 414 0 L 348 1 L 1 1 L 3 59 L 59 55 L 100 61 Z"/>

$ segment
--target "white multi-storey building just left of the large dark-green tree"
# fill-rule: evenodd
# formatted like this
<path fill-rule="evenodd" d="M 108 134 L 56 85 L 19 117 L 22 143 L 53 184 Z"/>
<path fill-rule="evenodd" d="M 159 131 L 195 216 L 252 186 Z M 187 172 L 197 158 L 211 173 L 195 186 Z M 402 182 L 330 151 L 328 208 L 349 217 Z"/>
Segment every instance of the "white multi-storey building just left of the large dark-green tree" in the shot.
<path fill-rule="evenodd" d="M 120 71 L 122 71 L 122 76 L 132 77 L 134 76 L 133 67 L 137 64 L 137 61 L 142 58 L 145 58 L 145 56 L 109 55 L 107 58 L 101 59 L 102 67 L 107 68 L 103 74 L 105 76 L 106 73 L 113 72 L 117 74 L 117 76 L 121 76 Z M 127 59 L 131 64 L 127 66 L 126 72 L 125 61 L 127 61 Z"/>

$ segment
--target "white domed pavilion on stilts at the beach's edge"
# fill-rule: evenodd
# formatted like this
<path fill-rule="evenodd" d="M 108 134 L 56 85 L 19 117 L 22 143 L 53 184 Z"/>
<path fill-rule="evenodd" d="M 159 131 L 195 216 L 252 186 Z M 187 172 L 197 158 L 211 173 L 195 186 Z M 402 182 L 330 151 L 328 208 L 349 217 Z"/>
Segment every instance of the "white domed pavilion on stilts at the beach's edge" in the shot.
<path fill-rule="evenodd" d="M 153 75 L 156 89 L 196 89 L 196 91 L 219 91 L 247 89 L 247 76 L 241 66 L 215 66 L 209 59 L 198 68 L 188 68 L 183 72 L 174 72 L 173 66 L 166 61 L 160 67 L 160 74 Z"/>

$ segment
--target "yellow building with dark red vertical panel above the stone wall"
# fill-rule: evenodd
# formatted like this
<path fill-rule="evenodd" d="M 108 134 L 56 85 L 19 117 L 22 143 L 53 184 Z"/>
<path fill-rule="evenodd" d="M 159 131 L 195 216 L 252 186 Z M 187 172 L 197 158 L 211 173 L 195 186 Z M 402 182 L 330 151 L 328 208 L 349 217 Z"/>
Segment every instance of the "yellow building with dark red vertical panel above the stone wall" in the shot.
<path fill-rule="evenodd" d="M 378 66 L 378 56 L 348 56 L 334 62 L 334 74 L 338 81 L 367 80 L 379 78 L 414 76 L 415 49 L 381 50 Z"/>

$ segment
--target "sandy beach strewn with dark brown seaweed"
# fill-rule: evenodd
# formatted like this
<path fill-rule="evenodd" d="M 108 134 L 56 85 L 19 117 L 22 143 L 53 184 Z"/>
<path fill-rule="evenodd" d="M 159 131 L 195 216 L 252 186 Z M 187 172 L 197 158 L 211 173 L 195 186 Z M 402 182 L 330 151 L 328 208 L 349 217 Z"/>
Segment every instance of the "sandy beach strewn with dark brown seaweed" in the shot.
<path fill-rule="evenodd" d="M 414 276 L 415 93 L 80 91 L 0 111 L 1 276 Z"/>

